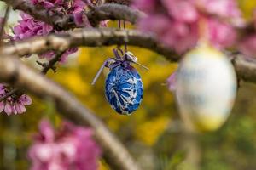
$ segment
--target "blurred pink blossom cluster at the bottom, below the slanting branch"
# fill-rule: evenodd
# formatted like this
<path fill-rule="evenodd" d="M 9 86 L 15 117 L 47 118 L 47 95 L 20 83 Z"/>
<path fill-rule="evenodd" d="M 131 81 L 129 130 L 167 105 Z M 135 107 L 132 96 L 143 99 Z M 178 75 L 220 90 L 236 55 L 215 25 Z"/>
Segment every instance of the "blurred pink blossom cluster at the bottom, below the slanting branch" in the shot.
<path fill-rule="evenodd" d="M 32 170 L 96 170 L 100 153 L 89 128 L 64 122 L 55 132 L 50 123 L 43 120 L 28 156 Z"/>

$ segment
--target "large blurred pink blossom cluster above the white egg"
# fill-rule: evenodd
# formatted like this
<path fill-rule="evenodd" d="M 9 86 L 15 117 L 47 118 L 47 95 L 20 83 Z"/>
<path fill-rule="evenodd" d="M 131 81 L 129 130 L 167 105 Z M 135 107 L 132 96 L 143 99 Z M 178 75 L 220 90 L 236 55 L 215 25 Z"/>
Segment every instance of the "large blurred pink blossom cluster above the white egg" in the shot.
<path fill-rule="evenodd" d="M 243 26 L 236 0 L 137 0 L 134 6 L 148 14 L 139 29 L 153 32 L 178 54 L 202 37 L 216 48 L 230 47 L 236 42 L 236 26 Z"/>

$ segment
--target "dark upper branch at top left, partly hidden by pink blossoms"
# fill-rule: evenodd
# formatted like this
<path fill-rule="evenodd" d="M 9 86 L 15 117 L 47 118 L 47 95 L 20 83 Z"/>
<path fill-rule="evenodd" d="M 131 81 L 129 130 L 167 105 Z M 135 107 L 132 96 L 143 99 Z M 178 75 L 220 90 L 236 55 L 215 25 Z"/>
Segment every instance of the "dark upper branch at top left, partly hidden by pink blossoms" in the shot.
<path fill-rule="evenodd" d="M 11 5 L 14 9 L 31 14 L 37 20 L 43 20 L 49 25 L 55 26 L 57 30 L 69 30 L 77 27 L 73 20 L 73 14 L 60 16 L 49 13 L 47 9 L 33 5 L 30 1 L 26 0 L 2 1 Z M 92 25 L 95 25 L 101 20 L 127 20 L 134 24 L 138 17 L 143 16 L 139 11 L 120 4 L 104 4 L 99 7 L 91 7 L 86 15 Z"/>

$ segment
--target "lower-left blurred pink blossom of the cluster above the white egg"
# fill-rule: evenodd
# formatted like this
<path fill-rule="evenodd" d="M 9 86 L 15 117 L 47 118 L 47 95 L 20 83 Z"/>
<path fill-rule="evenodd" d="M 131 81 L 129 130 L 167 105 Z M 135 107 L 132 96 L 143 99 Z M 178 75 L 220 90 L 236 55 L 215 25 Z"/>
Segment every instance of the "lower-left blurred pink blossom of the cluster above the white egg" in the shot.
<path fill-rule="evenodd" d="M 172 20 L 163 14 L 148 15 L 147 18 L 140 21 L 138 27 L 142 31 L 154 32 L 160 42 L 164 42 L 178 54 L 193 48 L 198 39 L 195 24 Z"/>

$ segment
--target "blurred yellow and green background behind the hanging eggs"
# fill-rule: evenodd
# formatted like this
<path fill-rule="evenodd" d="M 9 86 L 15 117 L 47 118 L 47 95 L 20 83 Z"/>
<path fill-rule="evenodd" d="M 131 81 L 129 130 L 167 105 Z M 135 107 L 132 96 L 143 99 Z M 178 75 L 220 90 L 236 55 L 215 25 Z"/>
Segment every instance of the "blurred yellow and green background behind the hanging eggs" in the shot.
<path fill-rule="evenodd" d="M 247 19 L 252 19 L 256 1 L 240 0 Z M 115 26 L 114 24 L 112 24 Z M 104 94 L 105 69 L 95 86 L 91 86 L 96 72 L 104 59 L 112 57 L 112 48 L 80 48 L 78 56 L 70 57 L 65 65 L 58 65 L 56 73 L 47 75 L 67 88 L 84 105 L 101 117 L 130 150 L 143 169 L 169 170 L 192 169 L 184 161 L 189 150 L 199 159 L 195 168 L 203 170 L 256 169 L 256 86 L 241 82 L 235 107 L 217 132 L 188 137 L 178 116 L 175 99 L 166 87 L 166 78 L 177 68 L 177 64 L 166 61 L 162 56 L 143 48 L 129 50 L 149 71 L 135 65 L 143 79 L 142 105 L 131 116 L 121 116 L 108 105 Z M 32 57 L 34 61 L 36 57 Z M 61 113 L 55 111 L 51 101 L 32 98 L 32 105 L 20 116 L 0 116 L 0 169 L 27 169 L 26 149 L 32 133 L 42 117 L 57 126 Z M 187 142 L 193 141 L 189 145 Z M 189 149 L 188 149 L 189 148 Z M 101 160 L 100 169 L 109 169 Z"/>

